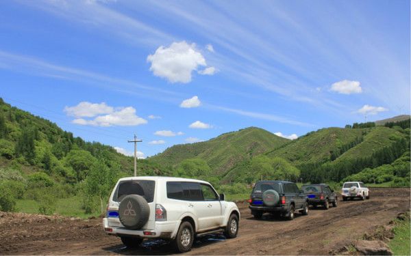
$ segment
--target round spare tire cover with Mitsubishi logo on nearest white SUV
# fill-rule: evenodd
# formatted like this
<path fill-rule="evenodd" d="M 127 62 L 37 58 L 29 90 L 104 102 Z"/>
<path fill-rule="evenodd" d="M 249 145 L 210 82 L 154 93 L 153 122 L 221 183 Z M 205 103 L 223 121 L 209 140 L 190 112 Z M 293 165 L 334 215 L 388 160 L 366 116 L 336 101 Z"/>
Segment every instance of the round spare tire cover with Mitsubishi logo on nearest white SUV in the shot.
<path fill-rule="evenodd" d="M 127 229 L 140 229 L 149 221 L 150 208 L 140 195 L 127 195 L 119 205 L 119 219 Z"/>

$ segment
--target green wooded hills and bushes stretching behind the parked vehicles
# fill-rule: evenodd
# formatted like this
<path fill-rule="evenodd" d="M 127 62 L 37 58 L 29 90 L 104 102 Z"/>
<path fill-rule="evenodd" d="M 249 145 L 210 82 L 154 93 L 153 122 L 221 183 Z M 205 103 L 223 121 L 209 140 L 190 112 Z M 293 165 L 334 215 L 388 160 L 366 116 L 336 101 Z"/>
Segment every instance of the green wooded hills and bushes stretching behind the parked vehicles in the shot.
<path fill-rule="evenodd" d="M 295 141 L 245 128 L 138 160 L 138 174 L 208 180 L 229 200 L 248 199 L 261 179 L 327 182 L 334 190 L 345 180 L 409 187 L 409 124 L 325 128 Z M 132 173 L 132 157 L 0 98 L 1 211 L 98 216 L 115 182 Z"/>

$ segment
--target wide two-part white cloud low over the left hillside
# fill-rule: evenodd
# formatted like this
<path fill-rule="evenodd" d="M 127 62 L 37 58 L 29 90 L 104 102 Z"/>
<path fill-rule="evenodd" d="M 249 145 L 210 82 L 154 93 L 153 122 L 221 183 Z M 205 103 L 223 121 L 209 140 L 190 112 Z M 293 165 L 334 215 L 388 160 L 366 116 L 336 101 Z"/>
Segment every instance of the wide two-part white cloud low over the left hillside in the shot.
<path fill-rule="evenodd" d="M 82 106 L 83 109 L 79 106 Z M 87 107 L 90 107 L 90 109 L 87 109 Z M 66 107 L 64 110 L 68 115 L 75 115 L 76 117 L 95 117 L 97 115 L 94 119 L 73 119 L 73 124 L 83 126 L 138 126 L 140 124 L 147 124 L 146 119 L 136 115 L 136 109 L 132 106 L 119 107 L 114 110 L 114 107 L 107 106 L 105 103 L 92 104 L 90 102 L 81 102 L 77 106 Z M 101 113 L 108 114 L 99 115 Z"/>

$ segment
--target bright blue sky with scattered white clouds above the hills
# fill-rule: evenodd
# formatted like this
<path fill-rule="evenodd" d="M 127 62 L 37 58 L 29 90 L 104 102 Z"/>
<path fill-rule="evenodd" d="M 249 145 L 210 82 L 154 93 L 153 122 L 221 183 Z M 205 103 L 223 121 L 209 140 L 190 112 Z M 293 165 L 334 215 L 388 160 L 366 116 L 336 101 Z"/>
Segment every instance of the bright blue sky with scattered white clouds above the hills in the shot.
<path fill-rule="evenodd" d="M 410 113 L 409 1 L 1 1 L 0 96 L 144 156 Z M 121 150 L 119 149 L 119 150 Z"/>

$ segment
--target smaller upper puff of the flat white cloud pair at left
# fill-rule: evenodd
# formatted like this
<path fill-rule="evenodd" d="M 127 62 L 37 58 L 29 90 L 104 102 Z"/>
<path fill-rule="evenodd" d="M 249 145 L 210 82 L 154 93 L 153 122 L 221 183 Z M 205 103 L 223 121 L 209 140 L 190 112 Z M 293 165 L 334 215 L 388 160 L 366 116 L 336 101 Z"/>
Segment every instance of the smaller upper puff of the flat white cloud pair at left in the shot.
<path fill-rule="evenodd" d="M 96 115 L 113 113 L 114 108 L 108 106 L 105 102 L 90 103 L 84 101 L 77 104 L 77 106 L 66 106 L 64 112 L 73 117 L 95 117 Z"/>

